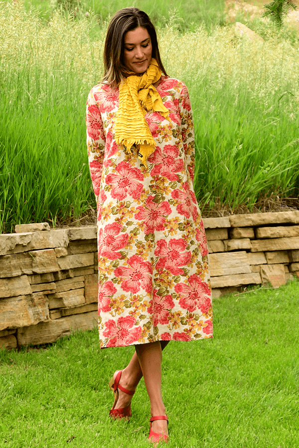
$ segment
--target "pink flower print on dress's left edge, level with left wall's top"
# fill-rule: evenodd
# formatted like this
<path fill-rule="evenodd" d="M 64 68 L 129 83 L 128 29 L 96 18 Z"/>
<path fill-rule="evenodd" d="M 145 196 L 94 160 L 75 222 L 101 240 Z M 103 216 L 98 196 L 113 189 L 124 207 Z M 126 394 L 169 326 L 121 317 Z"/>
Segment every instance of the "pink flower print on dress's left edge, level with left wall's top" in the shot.
<path fill-rule="evenodd" d="M 109 260 L 117 260 L 122 256 L 120 249 L 128 244 L 129 234 L 121 233 L 123 225 L 112 223 L 105 225 L 105 229 L 99 231 L 99 256 L 107 257 Z"/>

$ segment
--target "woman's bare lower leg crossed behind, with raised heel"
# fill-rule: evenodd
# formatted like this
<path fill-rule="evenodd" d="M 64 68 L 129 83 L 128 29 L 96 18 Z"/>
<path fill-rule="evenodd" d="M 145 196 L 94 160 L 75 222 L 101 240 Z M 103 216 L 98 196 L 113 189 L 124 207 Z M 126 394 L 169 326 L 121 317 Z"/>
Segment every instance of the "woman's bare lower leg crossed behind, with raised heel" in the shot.
<path fill-rule="evenodd" d="M 168 340 L 161 341 L 161 350 L 163 350 L 166 347 L 168 342 L 169 342 Z M 150 345 L 150 344 L 145 344 L 145 345 Z M 143 372 L 142 372 L 142 369 L 140 366 L 137 352 L 135 351 L 128 366 L 122 372 L 120 385 L 125 387 L 128 390 L 132 390 L 132 391 L 136 390 L 138 383 L 142 377 L 143 377 Z M 129 403 L 131 402 L 131 399 L 132 399 L 132 395 L 128 395 L 119 389 L 119 399 L 115 406 L 116 409 L 125 408 L 126 406 L 129 405 Z M 160 415 L 160 414 L 156 414 L 156 415 Z"/>

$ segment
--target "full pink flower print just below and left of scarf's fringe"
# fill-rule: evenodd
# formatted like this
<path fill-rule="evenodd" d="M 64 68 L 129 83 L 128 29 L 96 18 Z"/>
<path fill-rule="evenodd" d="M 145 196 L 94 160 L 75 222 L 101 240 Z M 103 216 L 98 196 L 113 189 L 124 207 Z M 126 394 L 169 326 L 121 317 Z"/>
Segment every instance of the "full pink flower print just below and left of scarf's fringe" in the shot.
<path fill-rule="evenodd" d="M 106 184 L 112 185 L 111 196 L 122 201 L 131 195 L 139 199 L 143 191 L 143 184 L 138 181 L 144 180 L 144 175 L 138 168 L 134 168 L 129 162 L 120 162 L 116 171 L 118 174 L 108 174 Z"/>

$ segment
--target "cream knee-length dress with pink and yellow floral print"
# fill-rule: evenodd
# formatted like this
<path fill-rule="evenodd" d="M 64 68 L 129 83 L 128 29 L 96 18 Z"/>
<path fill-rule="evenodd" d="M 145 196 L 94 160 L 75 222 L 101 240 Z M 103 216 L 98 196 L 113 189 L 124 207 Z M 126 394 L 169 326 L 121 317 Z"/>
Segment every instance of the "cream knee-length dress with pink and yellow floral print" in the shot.
<path fill-rule="evenodd" d="M 114 140 L 119 91 L 91 89 L 87 146 L 98 213 L 100 346 L 212 337 L 208 250 L 193 191 L 194 129 L 186 86 L 162 76 L 170 121 L 149 111 L 147 166 Z"/>

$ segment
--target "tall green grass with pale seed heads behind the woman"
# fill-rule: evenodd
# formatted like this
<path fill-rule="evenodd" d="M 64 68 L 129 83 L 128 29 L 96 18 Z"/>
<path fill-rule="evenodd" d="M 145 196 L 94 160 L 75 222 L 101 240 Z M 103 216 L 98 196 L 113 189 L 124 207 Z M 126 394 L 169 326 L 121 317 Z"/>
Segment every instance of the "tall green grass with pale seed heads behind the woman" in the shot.
<path fill-rule="evenodd" d="M 78 218 L 95 207 L 85 147 L 85 103 L 101 79 L 106 23 L 55 12 L 48 24 L 0 3 L 0 231 Z M 299 49 L 231 27 L 159 30 L 167 72 L 188 86 L 200 206 L 251 208 L 298 194 Z M 179 62 L 178 62 L 179 61 Z"/>

